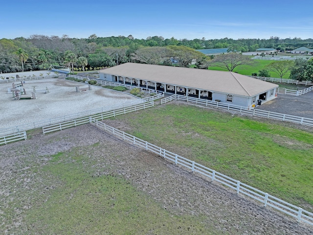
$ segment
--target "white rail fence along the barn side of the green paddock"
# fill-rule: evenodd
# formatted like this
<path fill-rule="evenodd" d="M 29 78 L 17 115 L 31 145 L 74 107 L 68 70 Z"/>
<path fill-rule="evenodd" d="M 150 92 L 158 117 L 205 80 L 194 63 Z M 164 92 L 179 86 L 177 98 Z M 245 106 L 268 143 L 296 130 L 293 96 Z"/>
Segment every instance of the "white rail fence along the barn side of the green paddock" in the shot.
<path fill-rule="evenodd" d="M 259 109 L 247 109 L 244 106 L 226 104 L 226 103 L 216 102 L 216 101 L 211 101 L 211 100 L 204 100 L 204 99 L 188 97 L 188 96 L 179 95 L 179 94 L 174 94 L 172 96 L 161 99 L 161 104 L 165 104 L 174 99 L 183 100 L 187 102 L 193 102 L 193 103 L 201 104 L 205 106 L 212 106 L 215 108 L 223 108 L 223 109 L 239 112 L 242 114 L 259 116 L 263 118 L 272 118 L 272 119 L 277 119 L 281 121 L 290 121 L 290 122 L 294 122 L 294 123 L 298 123 L 302 125 L 313 126 L 313 118 L 303 118 L 303 117 L 292 116 L 288 114 L 274 113 L 274 112 L 269 112 L 269 111 L 259 110 Z"/>

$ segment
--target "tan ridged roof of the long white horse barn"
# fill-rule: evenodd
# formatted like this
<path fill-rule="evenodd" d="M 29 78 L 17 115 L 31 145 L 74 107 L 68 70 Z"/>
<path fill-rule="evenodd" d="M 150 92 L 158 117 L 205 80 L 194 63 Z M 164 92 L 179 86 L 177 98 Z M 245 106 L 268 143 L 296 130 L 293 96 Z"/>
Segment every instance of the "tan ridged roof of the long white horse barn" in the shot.
<path fill-rule="evenodd" d="M 145 81 L 155 81 L 169 85 L 195 88 L 202 91 L 241 96 L 254 96 L 278 87 L 276 84 L 235 72 L 201 70 L 175 66 L 125 63 L 108 69 L 102 69 L 100 72 Z"/>

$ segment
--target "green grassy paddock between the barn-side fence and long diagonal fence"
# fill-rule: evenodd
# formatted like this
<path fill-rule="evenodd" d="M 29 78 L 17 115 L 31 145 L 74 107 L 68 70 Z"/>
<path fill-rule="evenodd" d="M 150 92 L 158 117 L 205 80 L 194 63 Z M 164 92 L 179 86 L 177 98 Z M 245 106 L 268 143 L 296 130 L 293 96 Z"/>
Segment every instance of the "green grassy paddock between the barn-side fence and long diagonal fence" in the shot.
<path fill-rule="evenodd" d="M 177 104 L 115 119 L 123 120 L 138 138 L 312 208 L 313 133 Z"/>

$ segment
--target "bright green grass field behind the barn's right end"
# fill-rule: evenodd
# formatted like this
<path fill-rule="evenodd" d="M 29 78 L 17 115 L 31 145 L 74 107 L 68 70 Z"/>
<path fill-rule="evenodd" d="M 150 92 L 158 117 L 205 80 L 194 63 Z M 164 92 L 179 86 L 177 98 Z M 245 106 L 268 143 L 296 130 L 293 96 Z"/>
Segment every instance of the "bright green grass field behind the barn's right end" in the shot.
<path fill-rule="evenodd" d="M 242 65 L 242 66 L 238 66 L 234 69 L 234 72 L 238 72 L 240 74 L 243 75 L 251 75 L 252 73 L 256 72 L 258 73 L 258 71 L 263 70 L 265 66 L 267 66 L 268 64 L 270 64 L 271 62 L 273 62 L 272 60 L 254 60 L 255 64 L 254 65 Z M 218 71 L 227 71 L 226 69 L 222 69 L 220 67 L 209 67 L 209 70 L 218 70 Z M 280 78 L 278 76 L 277 73 L 275 72 L 270 72 L 271 77 L 277 77 Z M 290 72 L 286 73 L 283 78 L 288 79 L 290 75 Z"/>

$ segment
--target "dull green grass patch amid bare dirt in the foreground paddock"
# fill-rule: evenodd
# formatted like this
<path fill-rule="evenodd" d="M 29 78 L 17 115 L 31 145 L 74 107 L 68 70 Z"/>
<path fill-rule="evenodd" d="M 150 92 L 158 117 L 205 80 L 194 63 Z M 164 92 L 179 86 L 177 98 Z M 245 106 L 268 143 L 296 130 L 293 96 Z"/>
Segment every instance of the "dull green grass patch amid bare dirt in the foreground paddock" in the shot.
<path fill-rule="evenodd" d="M 25 217 L 29 234 L 220 234 L 205 225 L 206 216 L 175 215 L 125 178 L 99 175 L 99 160 L 88 156 L 102 148 L 59 152 L 40 169 L 54 190 L 47 200 L 36 194 Z"/>

